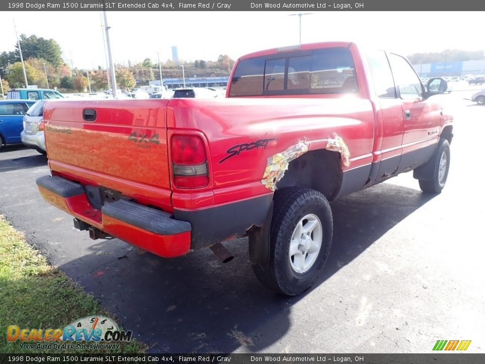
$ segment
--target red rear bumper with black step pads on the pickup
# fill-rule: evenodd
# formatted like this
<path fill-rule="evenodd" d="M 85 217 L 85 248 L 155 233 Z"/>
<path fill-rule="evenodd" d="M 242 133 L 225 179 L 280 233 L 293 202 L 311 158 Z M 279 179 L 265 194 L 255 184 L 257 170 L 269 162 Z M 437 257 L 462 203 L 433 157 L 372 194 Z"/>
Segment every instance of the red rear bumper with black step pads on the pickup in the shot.
<path fill-rule="evenodd" d="M 128 200 L 106 204 L 100 210 L 89 203 L 82 185 L 68 179 L 43 176 L 36 183 L 47 202 L 127 243 L 162 257 L 190 250 L 190 223 L 169 213 Z"/>

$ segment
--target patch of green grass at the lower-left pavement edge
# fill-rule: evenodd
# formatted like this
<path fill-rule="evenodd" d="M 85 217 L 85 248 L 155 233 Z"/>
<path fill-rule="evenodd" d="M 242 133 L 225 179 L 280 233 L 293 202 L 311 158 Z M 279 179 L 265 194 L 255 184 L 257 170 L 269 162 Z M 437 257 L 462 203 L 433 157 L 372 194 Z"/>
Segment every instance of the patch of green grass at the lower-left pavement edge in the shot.
<path fill-rule="evenodd" d="M 7 341 L 7 327 L 17 325 L 21 329 L 63 329 L 74 320 L 89 315 L 115 319 L 93 296 L 47 263 L 45 257 L 0 215 L 0 353 L 66 352 L 21 349 L 20 340 L 13 343 Z M 121 343 L 118 350 L 103 352 L 142 353 L 145 349 L 144 344 L 131 340 L 129 343 Z M 69 351 L 92 352 L 99 351 Z"/>

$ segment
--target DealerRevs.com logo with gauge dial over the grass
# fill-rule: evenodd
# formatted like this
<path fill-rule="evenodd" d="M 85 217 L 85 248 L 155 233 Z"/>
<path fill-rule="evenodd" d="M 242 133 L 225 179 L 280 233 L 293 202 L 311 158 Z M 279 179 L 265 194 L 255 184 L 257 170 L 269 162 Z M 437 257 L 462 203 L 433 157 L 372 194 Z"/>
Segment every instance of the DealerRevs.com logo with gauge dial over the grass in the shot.
<path fill-rule="evenodd" d="M 7 341 L 19 340 L 23 349 L 110 349 L 131 340 L 132 332 L 120 330 L 109 317 L 87 316 L 63 329 L 30 329 L 10 325 Z"/>

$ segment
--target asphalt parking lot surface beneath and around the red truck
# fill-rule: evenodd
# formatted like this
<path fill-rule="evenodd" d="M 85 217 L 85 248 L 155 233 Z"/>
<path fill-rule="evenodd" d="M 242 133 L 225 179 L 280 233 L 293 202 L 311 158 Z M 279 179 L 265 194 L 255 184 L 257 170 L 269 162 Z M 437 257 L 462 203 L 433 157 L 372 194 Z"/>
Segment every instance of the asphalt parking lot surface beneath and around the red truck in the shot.
<path fill-rule="evenodd" d="M 208 249 L 163 259 L 90 240 L 38 194 L 49 169 L 30 149 L 0 152 L 0 213 L 151 352 L 429 353 L 437 340 L 485 352 L 485 107 L 465 88 L 437 96 L 455 112 L 443 193 L 422 194 L 407 173 L 331 203 L 328 263 L 299 297 L 265 291 L 246 239 L 226 244 L 226 264 Z"/>

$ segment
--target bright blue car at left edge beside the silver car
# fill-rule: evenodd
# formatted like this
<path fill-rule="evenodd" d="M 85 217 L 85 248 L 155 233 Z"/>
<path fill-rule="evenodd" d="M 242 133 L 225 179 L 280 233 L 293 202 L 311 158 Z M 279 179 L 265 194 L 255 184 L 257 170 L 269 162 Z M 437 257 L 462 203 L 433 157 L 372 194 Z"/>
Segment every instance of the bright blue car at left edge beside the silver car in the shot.
<path fill-rule="evenodd" d="M 6 144 L 19 144 L 22 121 L 35 100 L 0 100 L 0 149 Z"/>

